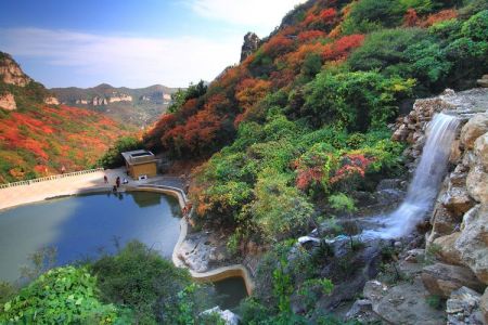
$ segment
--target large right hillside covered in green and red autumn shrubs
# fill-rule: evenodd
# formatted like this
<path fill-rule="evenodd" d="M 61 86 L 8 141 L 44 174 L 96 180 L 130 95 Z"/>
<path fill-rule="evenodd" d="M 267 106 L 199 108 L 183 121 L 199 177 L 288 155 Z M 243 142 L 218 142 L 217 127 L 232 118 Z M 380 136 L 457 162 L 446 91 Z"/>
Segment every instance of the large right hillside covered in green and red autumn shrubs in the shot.
<path fill-rule="evenodd" d="M 387 270 L 393 243 L 373 253 L 356 218 L 382 213 L 383 180 L 408 181 L 391 125 L 416 98 L 475 87 L 488 72 L 488 1 L 310 0 L 246 55 L 144 142 L 208 159 L 193 170 L 192 222 L 221 233 L 229 260 L 256 274 L 244 324 L 341 324 L 325 314 L 367 278 L 400 278 Z"/>

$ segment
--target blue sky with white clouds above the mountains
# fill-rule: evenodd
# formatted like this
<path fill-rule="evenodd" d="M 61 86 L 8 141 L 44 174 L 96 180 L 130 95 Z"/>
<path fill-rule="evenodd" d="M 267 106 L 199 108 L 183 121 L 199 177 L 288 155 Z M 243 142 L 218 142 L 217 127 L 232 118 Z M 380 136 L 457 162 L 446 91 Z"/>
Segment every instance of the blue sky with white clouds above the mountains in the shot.
<path fill-rule="evenodd" d="M 0 51 L 53 87 L 188 87 L 305 0 L 2 0 Z"/>

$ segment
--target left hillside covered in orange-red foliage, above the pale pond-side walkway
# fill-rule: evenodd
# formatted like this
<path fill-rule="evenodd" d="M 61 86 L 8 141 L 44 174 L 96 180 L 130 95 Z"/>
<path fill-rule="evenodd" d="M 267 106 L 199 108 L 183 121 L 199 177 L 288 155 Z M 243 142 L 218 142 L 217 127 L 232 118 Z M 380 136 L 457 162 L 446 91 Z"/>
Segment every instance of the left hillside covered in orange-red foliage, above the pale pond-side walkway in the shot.
<path fill-rule="evenodd" d="M 0 55 L 0 183 L 90 168 L 133 131 L 95 112 L 53 105 L 52 93 Z"/>

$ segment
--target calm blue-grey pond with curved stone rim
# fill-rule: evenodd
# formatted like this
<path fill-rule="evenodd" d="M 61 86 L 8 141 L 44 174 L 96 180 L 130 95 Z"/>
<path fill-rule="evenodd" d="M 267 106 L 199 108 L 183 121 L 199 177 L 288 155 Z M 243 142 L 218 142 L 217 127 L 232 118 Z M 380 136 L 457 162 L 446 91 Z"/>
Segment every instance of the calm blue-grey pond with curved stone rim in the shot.
<path fill-rule="evenodd" d="M 56 248 L 63 265 L 138 239 L 170 259 L 180 232 L 181 210 L 171 196 L 150 192 L 55 198 L 0 211 L 0 281 L 16 281 L 28 256 Z M 241 280 L 216 284 L 227 308 L 246 296 Z M 223 307 L 223 306 L 222 306 Z"/>

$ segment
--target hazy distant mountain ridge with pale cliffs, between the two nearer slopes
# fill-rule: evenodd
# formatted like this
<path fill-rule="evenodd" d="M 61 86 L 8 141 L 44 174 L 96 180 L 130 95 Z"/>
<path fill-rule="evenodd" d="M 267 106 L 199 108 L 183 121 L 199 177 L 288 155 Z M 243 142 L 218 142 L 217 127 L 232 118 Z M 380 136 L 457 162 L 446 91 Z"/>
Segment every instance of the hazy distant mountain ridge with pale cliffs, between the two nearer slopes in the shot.
<path fill-rule="evenodd" d="M 100 112 L 117 120 L 145 127 L 155 121 L 171 102 L 177 88 L 154 84 L 146 88 L 115 88 L 101 83 L 93 88 L 53 88 L 61 103 Z"/>

